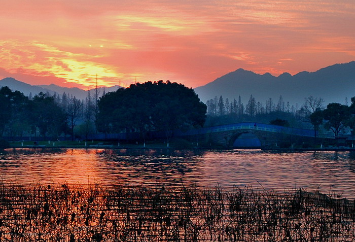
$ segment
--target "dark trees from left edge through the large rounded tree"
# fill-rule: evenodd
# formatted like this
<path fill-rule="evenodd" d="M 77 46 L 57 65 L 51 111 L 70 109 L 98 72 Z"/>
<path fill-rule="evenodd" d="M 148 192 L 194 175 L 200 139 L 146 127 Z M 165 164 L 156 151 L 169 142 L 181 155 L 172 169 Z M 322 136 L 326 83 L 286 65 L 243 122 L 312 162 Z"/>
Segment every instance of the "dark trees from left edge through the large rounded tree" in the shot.
<path fill-rule="evenodd" d="M 0 135 L 40 135 L 56 139 L 76 134 L 162 131 L 167 140 L 174 129 L 202 127 L 206 106 L 192 88 L 170 81 L 132 84 L 115 92 L 98 89 L 85 100 L 75 96 L 39 93 L 25 96 L 9 87 L 0 89 Z"/>

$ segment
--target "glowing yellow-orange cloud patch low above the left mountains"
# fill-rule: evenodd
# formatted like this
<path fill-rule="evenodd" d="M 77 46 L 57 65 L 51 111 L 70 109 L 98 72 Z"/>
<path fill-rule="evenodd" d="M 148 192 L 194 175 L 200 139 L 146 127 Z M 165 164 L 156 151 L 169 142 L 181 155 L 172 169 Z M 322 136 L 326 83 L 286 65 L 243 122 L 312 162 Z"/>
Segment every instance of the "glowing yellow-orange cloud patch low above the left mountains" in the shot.
<path fill-rule="evenodd" d="M 110 66 L 95 63 L 99 56 L 87 56 L 71 52 L 60 51 L 55 47 L 39 42 L 2 41 L 7 53 L 0 53 L 3 68 L 9 73 L 16 73 L 18 67 L 25 71 L 23 74 L 34 76 L 54 76 L 83 86 L 93 86 L 96 74 L 103 79 L 119 78 Z M 88 61 L 87 59 L 91 59 Z M 100 79 L 101 80 L 101 79 Z M 99 85 L 110 85 L 110 82 L 99 81 Z"/>

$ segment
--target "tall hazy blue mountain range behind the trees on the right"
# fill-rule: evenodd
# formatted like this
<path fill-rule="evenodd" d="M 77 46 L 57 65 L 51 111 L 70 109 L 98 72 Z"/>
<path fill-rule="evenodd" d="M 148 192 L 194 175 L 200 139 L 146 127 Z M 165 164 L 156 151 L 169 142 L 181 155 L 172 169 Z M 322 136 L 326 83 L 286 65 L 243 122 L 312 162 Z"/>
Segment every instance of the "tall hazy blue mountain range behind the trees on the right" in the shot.
<path fill-rule="evenodd" d="M 202 101 L 222 95 L 231 101 L 238 96 L 247 103 L 252 94 L 265 105 L 268 98 L 277 103 L 279 96 L 292 104 L 304 103 L 308 96 L 322 97 L 325 105 L 330 102 L 345 102 L 345 97 L 355 96 L 355 61 L 335 64 L 316 72 L 301 72 L 294 76 L 284 73 L 274 77 L 238 69 L 204 86 L 195 88 Z"/>

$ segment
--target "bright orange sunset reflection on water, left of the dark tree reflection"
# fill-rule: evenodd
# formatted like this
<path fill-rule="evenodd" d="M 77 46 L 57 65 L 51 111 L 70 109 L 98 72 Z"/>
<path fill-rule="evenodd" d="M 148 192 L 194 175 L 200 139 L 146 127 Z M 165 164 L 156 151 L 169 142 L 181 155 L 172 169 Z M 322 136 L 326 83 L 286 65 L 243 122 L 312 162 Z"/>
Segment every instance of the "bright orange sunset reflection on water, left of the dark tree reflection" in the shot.
<path fill-rule="evenodd" d="M 5 157 L 3 174 L 6 180 L 20 183 L 80 183 L 89 184 L 100 180 L 97 159 L 101 150 L 14 150 Z"/>

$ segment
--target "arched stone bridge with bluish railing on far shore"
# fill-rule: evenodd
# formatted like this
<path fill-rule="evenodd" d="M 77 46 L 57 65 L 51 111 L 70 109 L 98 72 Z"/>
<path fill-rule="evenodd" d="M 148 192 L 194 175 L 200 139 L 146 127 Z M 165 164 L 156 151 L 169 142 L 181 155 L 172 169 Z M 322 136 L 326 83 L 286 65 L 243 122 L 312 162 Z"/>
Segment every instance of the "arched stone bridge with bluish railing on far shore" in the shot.
<path fill-rule="evenodd" d="M 181 136 L 200 143 L 223 147 L 292 147 L 302 143 L 314 142 L 314 130 L 282 127 L 262 123 L 235 123 L 214 127 L 175 131 Z M 238 140 L 242 142 L 238 142 Z M 252 141 L 254 140 L 254 141 Z M 244 145 L 243 145 L 244 142 Z"/>

